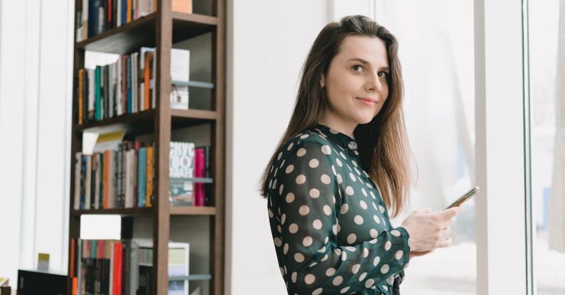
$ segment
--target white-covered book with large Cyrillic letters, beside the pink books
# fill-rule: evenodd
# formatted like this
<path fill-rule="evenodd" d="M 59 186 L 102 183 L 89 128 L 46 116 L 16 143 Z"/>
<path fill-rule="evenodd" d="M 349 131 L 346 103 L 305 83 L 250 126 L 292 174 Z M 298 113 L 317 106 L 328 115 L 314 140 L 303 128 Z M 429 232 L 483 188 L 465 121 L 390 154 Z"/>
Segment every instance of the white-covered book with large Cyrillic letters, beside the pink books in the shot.
<path fill-rule="evenodd" d="M 173 205 L 193 205 L 194 144 L 171 142 L 168 167 L 169 201 Z"/>

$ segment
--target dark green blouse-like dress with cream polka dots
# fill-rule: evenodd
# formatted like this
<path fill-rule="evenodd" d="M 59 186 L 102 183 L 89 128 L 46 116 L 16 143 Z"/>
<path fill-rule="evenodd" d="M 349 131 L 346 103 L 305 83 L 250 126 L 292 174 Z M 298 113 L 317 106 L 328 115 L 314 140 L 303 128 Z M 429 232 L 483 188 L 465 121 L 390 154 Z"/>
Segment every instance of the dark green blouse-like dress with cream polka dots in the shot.
<path fill-rule="evenodd" d="M 289 139 L 269 172 L 269 222 L 289 294 L 393 294 L 409 262 L 357 142 L 322 124 Z M 396 293 L 395 291 L 394 293 Z"/>

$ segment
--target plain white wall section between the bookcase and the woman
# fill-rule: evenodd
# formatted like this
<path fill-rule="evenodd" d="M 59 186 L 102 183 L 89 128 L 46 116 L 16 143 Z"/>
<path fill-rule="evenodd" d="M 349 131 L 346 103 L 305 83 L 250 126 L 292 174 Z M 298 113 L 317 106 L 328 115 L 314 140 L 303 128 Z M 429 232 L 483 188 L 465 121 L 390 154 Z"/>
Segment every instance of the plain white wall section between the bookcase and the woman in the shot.
<path fill-rule="evenodd" d="M 286 294 L 259 178 L 331 2 L 228 1 L 226 294 Z"/>

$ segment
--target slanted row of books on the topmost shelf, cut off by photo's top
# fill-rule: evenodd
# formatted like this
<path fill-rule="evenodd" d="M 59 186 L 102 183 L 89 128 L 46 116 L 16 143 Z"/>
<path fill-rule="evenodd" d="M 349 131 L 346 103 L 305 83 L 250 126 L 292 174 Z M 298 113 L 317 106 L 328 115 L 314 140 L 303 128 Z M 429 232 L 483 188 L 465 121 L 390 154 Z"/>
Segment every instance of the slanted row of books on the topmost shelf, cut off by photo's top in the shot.
<path fill-rule="evenodd" d="M 75 0 L 77 42 L 154 11 L 156 0 Z"/>

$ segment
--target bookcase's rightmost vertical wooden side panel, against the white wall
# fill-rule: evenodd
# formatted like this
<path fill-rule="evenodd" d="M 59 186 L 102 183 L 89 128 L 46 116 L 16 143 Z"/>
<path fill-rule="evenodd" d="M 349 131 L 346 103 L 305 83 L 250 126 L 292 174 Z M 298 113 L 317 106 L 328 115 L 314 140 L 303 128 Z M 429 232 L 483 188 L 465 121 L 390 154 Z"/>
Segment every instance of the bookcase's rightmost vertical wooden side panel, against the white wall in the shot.
<path fill-rule="evenodd" d="M 214 13 L 218 23 L 212 38 L 212 80 L 215 89 L 212 92 L 212 109 L 217 112 L 217 121 L 212 128 L 215 188 L 213 200 L 216 215 L 213 218 L 211 265 L 214 274 L 212 294 L 224 293 L 224 232 L 225 232 L 225 0 L 215 0 Z"/>

